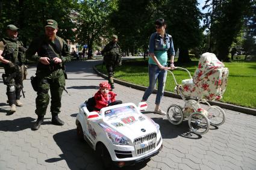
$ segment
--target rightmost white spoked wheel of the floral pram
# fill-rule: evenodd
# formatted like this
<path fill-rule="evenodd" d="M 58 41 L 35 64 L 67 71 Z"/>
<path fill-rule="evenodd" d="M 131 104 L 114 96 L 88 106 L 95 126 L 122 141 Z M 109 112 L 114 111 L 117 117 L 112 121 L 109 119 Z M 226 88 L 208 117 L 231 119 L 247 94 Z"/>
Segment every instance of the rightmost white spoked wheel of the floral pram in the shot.
<path fill-rule="evenodd" d="M 220 126 L 225 122 L 225 112 L 219 106 L 210 106 L 207 111 L 211 125 Z"/>

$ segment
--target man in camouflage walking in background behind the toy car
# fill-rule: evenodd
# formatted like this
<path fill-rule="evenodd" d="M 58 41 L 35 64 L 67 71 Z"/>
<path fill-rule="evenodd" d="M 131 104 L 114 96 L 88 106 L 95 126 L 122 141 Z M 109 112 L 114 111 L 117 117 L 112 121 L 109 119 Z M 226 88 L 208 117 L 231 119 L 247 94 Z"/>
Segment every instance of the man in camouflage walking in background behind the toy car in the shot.
<path fill-rule="evenodd" d="M 111 85 L 111 89 L 114 88 L 114 70 L 117 65 L 121 65 L 121 50 L 117 43 L 117 35 L 112 36 L 112 40 L 102 50 L 104 55 L 104 63 L 108 71 L 108 83 Z"/>

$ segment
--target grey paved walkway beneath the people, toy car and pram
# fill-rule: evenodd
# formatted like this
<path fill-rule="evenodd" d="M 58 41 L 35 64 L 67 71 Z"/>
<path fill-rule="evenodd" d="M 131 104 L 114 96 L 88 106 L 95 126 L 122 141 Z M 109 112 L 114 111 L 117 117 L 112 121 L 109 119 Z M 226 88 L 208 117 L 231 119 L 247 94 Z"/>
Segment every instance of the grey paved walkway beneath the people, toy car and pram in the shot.
<path fill-rule="evenodd" d="M 0 169 L 102 169 L 101 162 L 86 142 L 76 139 L 75 117 L 78 105 L 93 96 L 102 82 L 92 65 L 100 61 L 72 61 L 67 64 L 69 79 L 63 93 L 60 118 L 64 126 L 51 124 L 48 112 L 37 131 L 30 128 L 35 121 L 35 99 L 30 80 L 24 81 L 25 104 L 13 115 L 7 115 L 6 87 L 0 78 Z M 0 74 L 4 70 L 0 68 Z M 28 69 L 28 78 L 36 68 Z M 117 100 L 140 102 L 143 91 L 116 84 Z M 256 169 L 256 117 L 240 112 L 226 112 L 226 122 L 210 127 L 207 134 L 190 133 L 187 121 L 173 126 L 166 117 L 154 114 L 155 94 L 149 97 L 146 115 L 160 124 L 163 150 L 150 161 L 123 169 Z M 163 97 L 162 108 L 183 100 Z M 49 107 L 48 107 L 49 108 Z"/>

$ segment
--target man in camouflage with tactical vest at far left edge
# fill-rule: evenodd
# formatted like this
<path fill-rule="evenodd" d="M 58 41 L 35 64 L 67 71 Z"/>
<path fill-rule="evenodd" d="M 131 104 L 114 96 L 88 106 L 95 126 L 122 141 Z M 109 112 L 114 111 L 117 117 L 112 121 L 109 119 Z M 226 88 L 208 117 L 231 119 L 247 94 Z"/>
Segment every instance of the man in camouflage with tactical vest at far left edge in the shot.
<path fill-rule="evenodd" d="M 16 112 L 16 106 L 22 106 L 20 92 L 22 91 L 22 70 L 25 69 L 25 48 L 22 41 L 17 38 L 15 25 L 7 25 L 7 37 L 0 41 L 0 62 L 4 63 L 5 74 L 2 75 L 7 85 L 8 103 L 11 106 L 10 114 Z"/>

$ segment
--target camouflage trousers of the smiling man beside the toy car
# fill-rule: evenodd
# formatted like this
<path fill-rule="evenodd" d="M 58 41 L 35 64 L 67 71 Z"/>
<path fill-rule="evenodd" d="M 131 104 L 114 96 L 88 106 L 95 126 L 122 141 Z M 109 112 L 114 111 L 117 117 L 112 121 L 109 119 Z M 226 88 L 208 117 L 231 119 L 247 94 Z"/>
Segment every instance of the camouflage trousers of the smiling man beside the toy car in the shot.
<path fill-rule="evenodd" d="M 65 87 L 65 76 L 61 69 L 52 71 L 45 75 L 44 71 L 37 71 L 38 91 L 36 98 L 36 114 L 43 116 L 46 114 L 46 109 L 49 104 L 49 90 L 51 93 L 51 113 L 59 114 L 61 108 L 61 96 Z"/>

